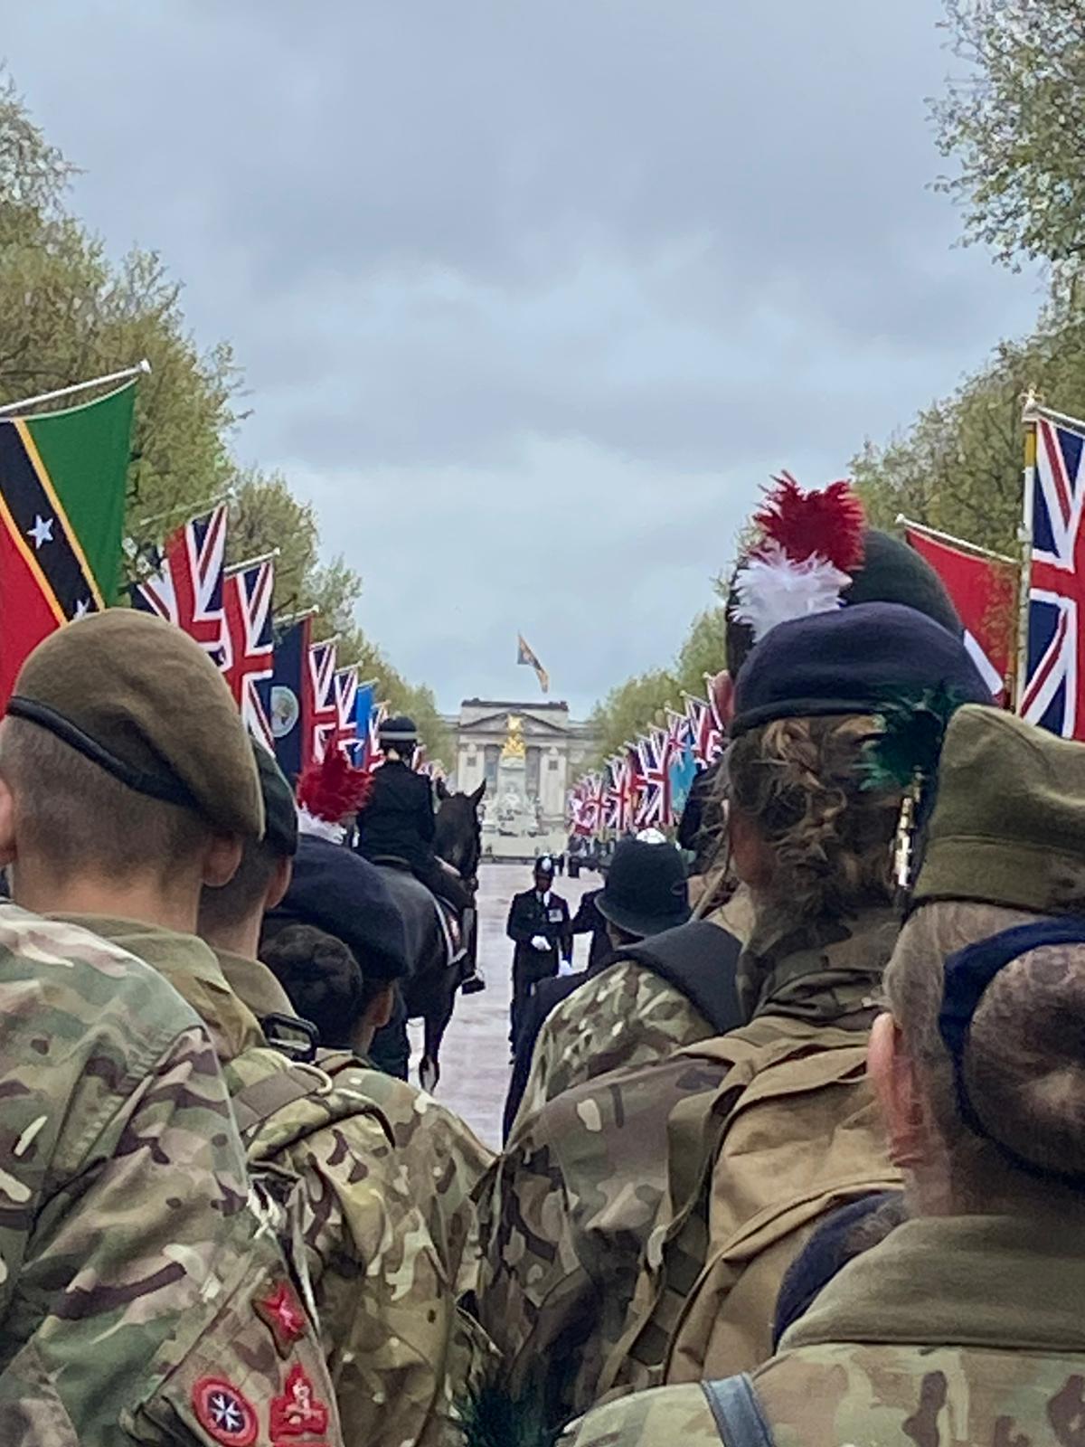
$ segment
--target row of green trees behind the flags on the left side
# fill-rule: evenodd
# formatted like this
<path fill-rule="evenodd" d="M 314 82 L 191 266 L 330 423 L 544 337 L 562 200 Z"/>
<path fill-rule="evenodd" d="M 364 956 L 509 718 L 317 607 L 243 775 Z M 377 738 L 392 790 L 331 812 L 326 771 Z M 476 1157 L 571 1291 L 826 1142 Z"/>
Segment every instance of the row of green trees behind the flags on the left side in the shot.
<path fill-rule="evenodd" d="M 67 208 L 75 168 L 33 124 L 0 74 L 0 402 L 68 386 L 148 357 L 139 382 L 129 467 L 127 534 L 133 572 L 165 532 L 211 502 L 230 499 L 230 560 L 281 550 L 279 614 L 315 608 L 318 631 L 341 635 L 344 663 L 396 710 L 417 715 L 431 752 L 448 748 L 433 693 L 409 683 L 357 627 L 362 577 L 341 557 L 321 561 L 310 504 L 279 473 L 243 472 L 231 453 L 240 372 L 224 343 L 200 350 L 185 327 L 181 287 L 155 252 L 110 262 Z M 450 761 L 450 760 L 448 760 Z"/>

